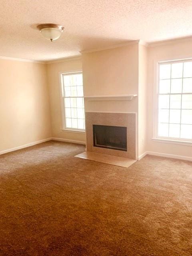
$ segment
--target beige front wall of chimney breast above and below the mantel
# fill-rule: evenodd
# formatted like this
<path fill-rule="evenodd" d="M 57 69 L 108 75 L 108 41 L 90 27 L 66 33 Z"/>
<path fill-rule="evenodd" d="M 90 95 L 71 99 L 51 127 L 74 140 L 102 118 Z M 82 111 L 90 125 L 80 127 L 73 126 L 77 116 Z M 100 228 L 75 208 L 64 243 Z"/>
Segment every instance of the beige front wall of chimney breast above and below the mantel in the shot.
<path fill-rule="evenodd" d="M 82 55 L 84 96 L 138 94 L 138 44 Z M 137 112 L 132 101 L 92 102 L 86 111 Z"/>

